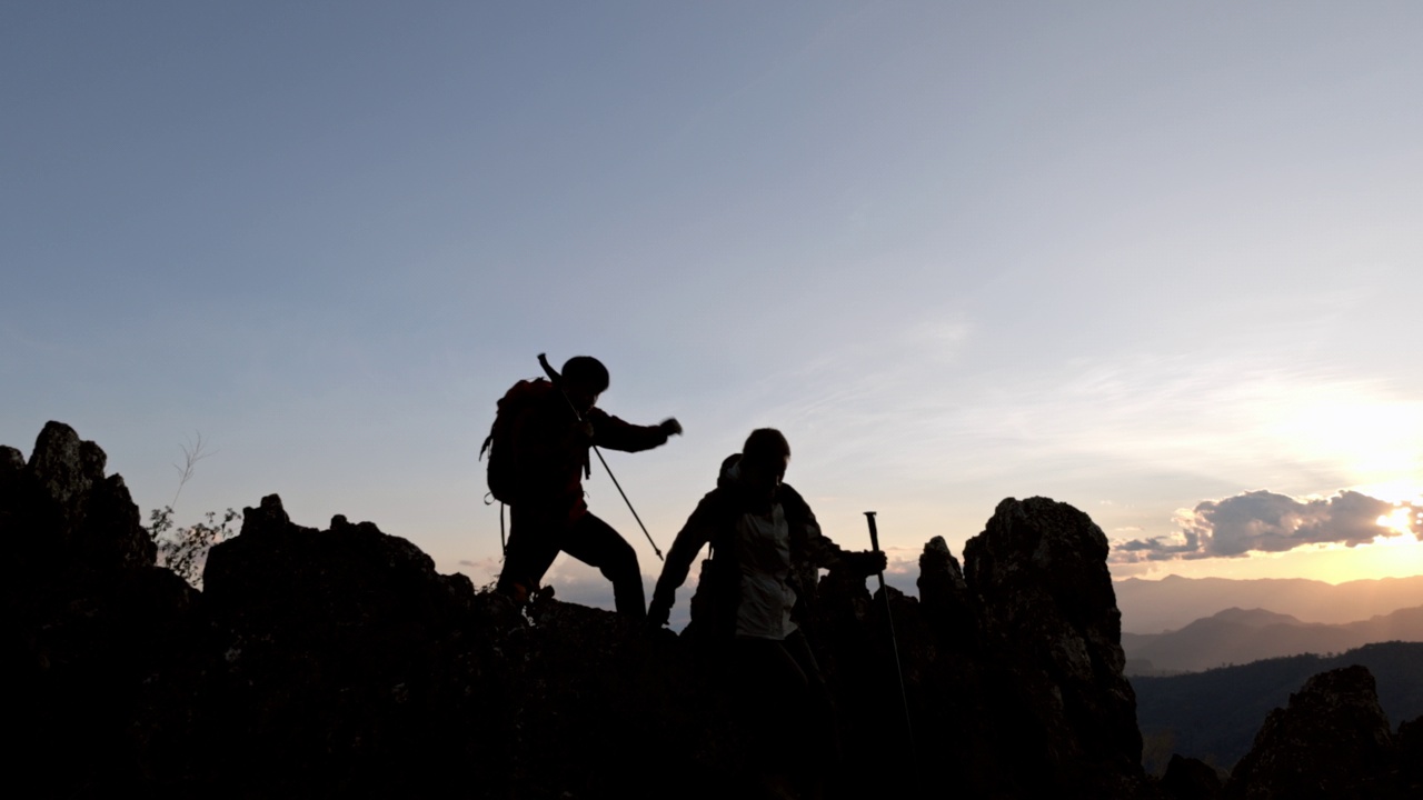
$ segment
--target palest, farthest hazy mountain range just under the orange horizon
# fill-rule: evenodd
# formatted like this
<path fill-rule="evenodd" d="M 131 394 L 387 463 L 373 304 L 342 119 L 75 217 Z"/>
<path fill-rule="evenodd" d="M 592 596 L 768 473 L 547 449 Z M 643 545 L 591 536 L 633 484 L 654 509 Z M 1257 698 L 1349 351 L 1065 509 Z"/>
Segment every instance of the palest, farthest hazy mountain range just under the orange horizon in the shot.
<path fill-rule="evenodd" d="M 1268 608 L 1302 622 L 1342 625 L 1423 605 L 1423 575 L 1338 585 L 1303 578 L 1238 581 L 1170 575 L 1160 581 L 1128 578 L 1113 584 L 1113 589 L 1121 609 L 1121 629 L 1131 633 L 1177 631 L 1229 608 Z"/>

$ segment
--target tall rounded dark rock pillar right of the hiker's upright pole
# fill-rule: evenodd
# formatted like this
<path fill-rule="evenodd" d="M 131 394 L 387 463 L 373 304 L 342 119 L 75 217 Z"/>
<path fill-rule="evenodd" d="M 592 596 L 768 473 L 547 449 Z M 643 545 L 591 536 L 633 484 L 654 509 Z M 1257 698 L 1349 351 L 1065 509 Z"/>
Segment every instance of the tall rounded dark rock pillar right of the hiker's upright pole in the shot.
<path fill-rule="evenodd" d="M 979 632 L 1012 678 L 1033 760 L 1053 786 L 1083 796 L 1128 791 L 1141 733 L 1107 537 L 1067 504 L 1005 500 L 963 558 Z"/>

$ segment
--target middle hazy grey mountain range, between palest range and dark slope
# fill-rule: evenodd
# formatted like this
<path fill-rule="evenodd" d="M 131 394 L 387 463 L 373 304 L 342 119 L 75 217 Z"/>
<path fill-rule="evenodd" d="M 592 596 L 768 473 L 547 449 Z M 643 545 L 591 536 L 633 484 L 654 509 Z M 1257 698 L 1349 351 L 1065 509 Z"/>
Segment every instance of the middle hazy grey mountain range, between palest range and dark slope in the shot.
<path fill-rule="evenodd" d="M 1228 608 L 1180 631 L 1123 633 L 1121 649 L 1127 675 L 1163 675 L 1301 653 L 1339 653 L 1392 641 L 1423 642 L 1423 605 L 1345 625 L 1302 622 L 1261 608 Z"/>

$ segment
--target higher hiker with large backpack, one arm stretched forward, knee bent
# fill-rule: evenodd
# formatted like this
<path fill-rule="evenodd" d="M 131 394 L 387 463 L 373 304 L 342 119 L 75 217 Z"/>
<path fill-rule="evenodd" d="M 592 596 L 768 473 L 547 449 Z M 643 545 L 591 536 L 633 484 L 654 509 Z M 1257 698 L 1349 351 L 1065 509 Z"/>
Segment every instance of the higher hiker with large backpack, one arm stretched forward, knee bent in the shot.
<path fill-rule="evenodd" d="M 549 373 L 559 377 L 556 373 Z M 638 453 L 682 433 L 675 419 L 635 426 L 598 409 L 608 367 L 591 356 L 564 364 L 561 384 L 521 380 L 498 403 L 490 451 L 490 493 L 509 507 L 509 541 L 497 588 L 527 602 L 559 552 L 596 567 L 613 584 L 618 614 L 643 619 L 638 554 L 588 511 L 589 447 Z"/>

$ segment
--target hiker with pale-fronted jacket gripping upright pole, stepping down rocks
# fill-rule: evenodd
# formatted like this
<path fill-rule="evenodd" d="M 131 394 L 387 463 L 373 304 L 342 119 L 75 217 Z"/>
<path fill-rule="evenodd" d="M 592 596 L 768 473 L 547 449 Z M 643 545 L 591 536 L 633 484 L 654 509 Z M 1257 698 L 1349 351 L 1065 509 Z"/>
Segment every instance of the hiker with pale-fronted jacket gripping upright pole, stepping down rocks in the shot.
<path fill-rule="evenodd" d="M 676 589 L 710 544 L 687 631 L 733 682 L 737 717 L 753 742 L 753 779 L 763 789 L 798 784 L 803 796 L 815 796 L 838 742 L 830 692 L 798 623 L 801 601 L 813 595 L 820 568 L 862 579 L 884 569 L 885 555 L 844 551 L 821 534 L 805 500 L 781 483 L 790 457 L 780 431 L 758 428 L 721 463 L 717 487 L 667 552 L 647 626 L 667 623 Z"/>

